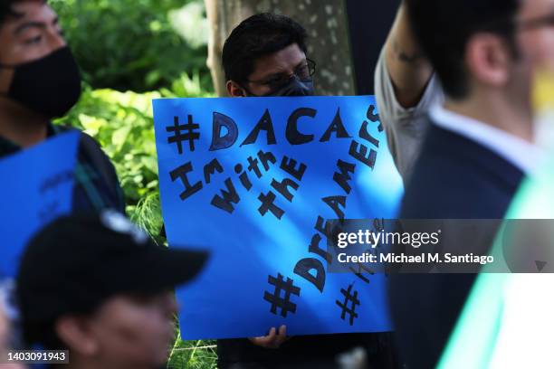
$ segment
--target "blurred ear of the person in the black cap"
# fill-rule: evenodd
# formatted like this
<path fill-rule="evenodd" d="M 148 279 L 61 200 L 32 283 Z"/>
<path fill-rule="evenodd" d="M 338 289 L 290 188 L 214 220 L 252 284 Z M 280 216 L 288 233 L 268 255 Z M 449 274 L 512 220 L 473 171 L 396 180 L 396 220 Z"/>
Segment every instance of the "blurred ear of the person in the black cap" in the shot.
<path fill-rule="evenodd" d="M 85 317 L 61 317 L 54 329 L 62 342 L 81 355 L 95 355 L 98 343 L 92 335 L 90 322 Z"/>

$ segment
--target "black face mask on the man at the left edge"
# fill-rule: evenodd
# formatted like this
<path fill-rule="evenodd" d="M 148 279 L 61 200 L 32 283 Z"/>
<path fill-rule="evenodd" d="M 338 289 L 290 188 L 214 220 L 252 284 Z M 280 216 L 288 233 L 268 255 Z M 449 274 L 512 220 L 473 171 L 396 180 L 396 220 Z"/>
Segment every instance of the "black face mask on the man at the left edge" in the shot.
<path fill-rule="evenodd" d="M 81 96 L 81 73 L 67 46 L 36 61 L 0 68 L 14 70 L 3 95 L 46 118 L 64 116 Z"/>

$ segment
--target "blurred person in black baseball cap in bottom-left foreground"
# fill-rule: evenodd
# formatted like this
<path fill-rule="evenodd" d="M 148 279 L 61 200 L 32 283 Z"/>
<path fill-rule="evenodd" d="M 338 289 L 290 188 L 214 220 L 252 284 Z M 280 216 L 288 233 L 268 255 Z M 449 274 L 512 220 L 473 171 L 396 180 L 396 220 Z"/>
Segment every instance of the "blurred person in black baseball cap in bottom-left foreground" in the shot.
<path fill-rule="evenodd" d="M 24 341 L 67 368 L 159 368 L 175 336 L 172 289 L 203 252 L 160 247 L 123 215 L 64 217 L 29 243 L 17 276 Z"/>

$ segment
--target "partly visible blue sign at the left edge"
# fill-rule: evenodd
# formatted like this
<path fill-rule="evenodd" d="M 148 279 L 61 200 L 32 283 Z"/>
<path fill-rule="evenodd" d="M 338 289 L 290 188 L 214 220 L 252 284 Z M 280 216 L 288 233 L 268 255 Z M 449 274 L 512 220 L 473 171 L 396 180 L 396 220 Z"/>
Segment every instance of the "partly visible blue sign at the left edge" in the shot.
<path fill-rule="evenodd" d="M 78 143 L 66 133 L 0 159 L 0 275 L 13 278 L 33 233 L 71 211 Z"/>

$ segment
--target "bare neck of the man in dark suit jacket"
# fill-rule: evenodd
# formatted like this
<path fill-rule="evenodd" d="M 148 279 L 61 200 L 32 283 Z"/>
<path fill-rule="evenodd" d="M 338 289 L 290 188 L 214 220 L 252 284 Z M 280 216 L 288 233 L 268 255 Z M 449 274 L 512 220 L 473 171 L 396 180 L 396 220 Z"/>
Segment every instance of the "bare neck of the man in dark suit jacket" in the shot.
<path fill-rule="evenodd" d="M 532 112 L 521 101 L 510 102 L 498 93 L 475 92 L 468 99 L 447 99 L 444 109 L 473 118 L 533 143 Z"/>

